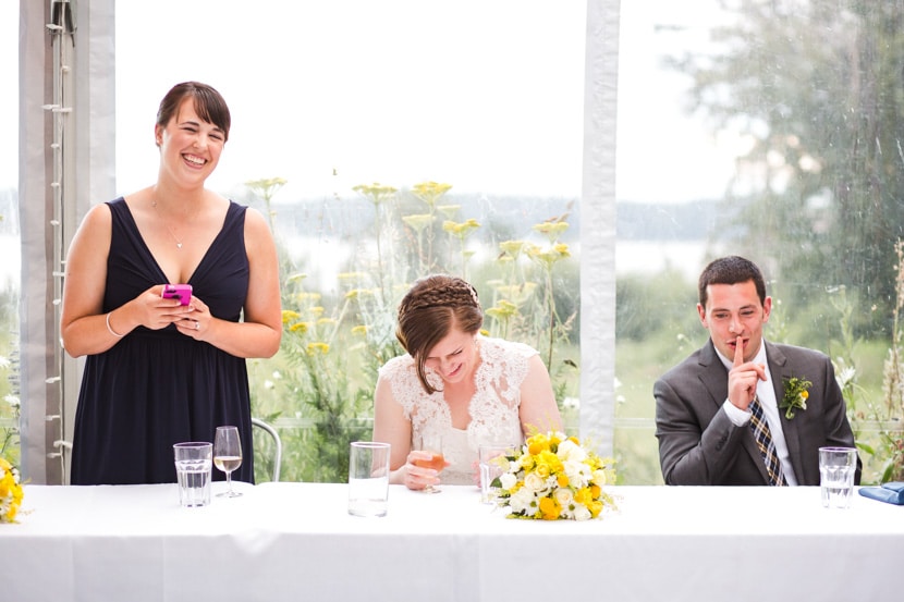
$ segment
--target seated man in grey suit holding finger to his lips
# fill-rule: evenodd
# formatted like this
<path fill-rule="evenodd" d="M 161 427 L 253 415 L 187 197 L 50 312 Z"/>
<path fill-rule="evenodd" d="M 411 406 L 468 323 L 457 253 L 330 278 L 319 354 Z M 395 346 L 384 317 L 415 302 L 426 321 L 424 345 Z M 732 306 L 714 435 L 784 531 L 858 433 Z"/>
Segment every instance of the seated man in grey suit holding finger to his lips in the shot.
<path fill-rule="evenodd" d="M 854 446 L 831 361 L 765 341 L 771 310 L 749 260 L 717 259 L 700 274 L 697 311 L 709 341 L 653 385 L 667 484 L 818 486 L 819 447 Z M 779 405 L 792 378 L 811 384 L 789 413 Z"/>

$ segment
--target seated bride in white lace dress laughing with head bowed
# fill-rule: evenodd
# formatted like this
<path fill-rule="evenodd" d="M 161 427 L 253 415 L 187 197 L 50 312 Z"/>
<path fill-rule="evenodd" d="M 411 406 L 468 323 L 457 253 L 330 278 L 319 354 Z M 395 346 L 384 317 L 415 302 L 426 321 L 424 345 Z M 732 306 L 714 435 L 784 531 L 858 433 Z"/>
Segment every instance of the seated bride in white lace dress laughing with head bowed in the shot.
<path fill-rule="evenodd" d="M 532 428 L 561 430 L 537 352 L 481 336 L 482 323 L 477 292 L 459 278 L 427 277 L 402 299 L 396 336 L 408 353 L 380 369 L 375 394 L 374 441 L 392 445 L 390 482 L 476 483 L 481 443 L 518 444 Z M 442 437 L 441 474 L 413 464 L 429 459 L 413 442 L 430 432 Z"/>

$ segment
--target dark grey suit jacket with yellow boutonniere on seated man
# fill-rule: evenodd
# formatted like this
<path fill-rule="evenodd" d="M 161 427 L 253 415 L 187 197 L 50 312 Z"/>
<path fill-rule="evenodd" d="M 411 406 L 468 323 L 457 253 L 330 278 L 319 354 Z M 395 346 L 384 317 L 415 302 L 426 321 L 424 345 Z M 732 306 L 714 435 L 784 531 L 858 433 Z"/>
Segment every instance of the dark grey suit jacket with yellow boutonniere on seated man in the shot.
<path fill-rule="evenodd" d="M 844 397 L 828 356 L 791 345 L 766 343 L 775 398 L 785 378 L 813 382 L 807 409 L 794 418 L 780 410 L 797 483 L 819 484 L 819 447 L 854 446 Z M 712 341 L 669 370 L 653 385 L 659 462 L 667 484 L 768 484 L 762 457 L 747 426 L 736 427 L 722 409 L 729 373 Z M 860 481 L 857 459 L 856 482 Z"/>

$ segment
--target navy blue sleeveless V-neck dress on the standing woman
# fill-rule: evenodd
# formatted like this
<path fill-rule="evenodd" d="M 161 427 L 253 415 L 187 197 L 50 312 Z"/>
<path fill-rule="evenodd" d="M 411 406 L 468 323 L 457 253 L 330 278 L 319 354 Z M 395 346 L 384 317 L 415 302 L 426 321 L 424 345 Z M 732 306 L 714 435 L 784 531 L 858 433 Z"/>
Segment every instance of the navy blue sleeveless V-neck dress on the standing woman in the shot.
<path fill-rule="evenodd" d="M 145 245 L 125 200 L 111 202 L 112 241 L 103 311 L 167 277 Z M 237 322 L 248 291 L 245 207 L 230 201 L 217 235 L 188 284 L 210 314 Z M 242 466 L 254 482 L 251 401 L 245 360 L 180 334 L 138 327 L 85 364 L 72 449 L 73 484 L 175 482 L 173 443 L 209 441 L 218 426 L 239 427 Z M 224 475 L 213 469 L 213 478 Z"/>

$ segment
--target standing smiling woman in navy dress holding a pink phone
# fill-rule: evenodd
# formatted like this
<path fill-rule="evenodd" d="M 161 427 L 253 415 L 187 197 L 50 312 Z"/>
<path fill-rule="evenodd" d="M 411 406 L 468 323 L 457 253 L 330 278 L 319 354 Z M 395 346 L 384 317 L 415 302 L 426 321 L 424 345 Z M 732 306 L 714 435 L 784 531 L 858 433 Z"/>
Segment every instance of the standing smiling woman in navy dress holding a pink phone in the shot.
<path fill-rule="evenodd" d="M 174 482 L 173 443 L 222 425 L 242 438 L 233 479 L 254 482 L 245 358 L 279 349 L 279 268 L 264 217 L 205 188 L 229 128 L 217 90 L 174 86 L 154 128 L 157 182 L 94 206 L 72 241 L 62 342 L 87 356 L 73 484 Z M 191 284 L 188 305 L 162 298 L 167 283 Z"/>

